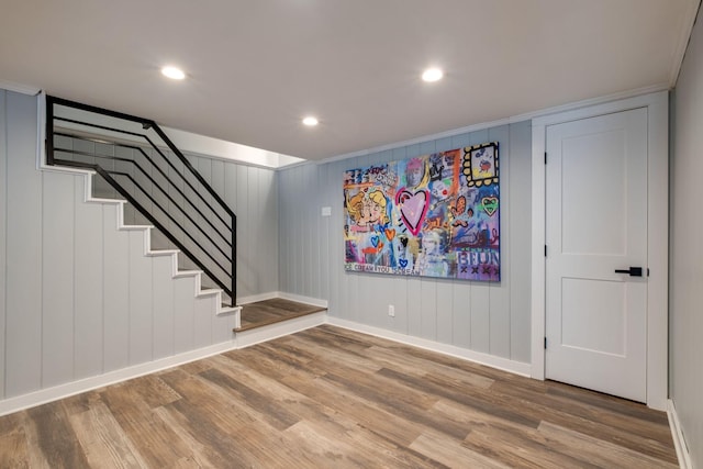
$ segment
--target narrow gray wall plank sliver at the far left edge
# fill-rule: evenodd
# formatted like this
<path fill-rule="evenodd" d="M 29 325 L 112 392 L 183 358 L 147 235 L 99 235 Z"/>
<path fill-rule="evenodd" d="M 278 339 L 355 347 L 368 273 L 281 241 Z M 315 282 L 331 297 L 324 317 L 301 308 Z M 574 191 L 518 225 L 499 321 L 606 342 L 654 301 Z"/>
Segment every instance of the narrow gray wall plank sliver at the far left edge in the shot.
<path fill-rule="evenodd" d="M 0 89 L 0 259 L 7 261 L 7 216 L 8 216 L 8 109 L 7 91 Z M 5 337 L 5 298 L 7 298 L 7 266 L 0 266 L 0 337 Z M 0 346 L 0 399 L 4 399 L 4 355 L 5 344 Z"/>

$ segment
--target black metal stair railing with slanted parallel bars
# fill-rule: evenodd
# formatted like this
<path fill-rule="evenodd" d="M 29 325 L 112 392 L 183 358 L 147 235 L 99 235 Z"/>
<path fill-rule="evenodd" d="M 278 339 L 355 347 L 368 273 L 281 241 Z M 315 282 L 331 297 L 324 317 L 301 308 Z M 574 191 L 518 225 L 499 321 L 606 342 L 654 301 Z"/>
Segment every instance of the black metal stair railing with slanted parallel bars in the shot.
<path fill-rule="evenodd" d="M 80 115 L 85 113 L 88 115 L 83 119 L 57 115 L 56 107 L 63 107 L 65 112 L 66 109 L 77 110 Z M 70 114 L 70 111 L 67 113 Z M 122 126 L 104 125 L 101 123 L 103 118 L 110 121 L 116 120 Z M 141 130 L 137 132 L 130 130 L 129 123 L 138 124 Z M 89 131 L 86 132 L 85 129 Z M 147 135 L 149 131 L 158 136 L 163 143 L 161 146 L 155 143 L 155 138 Z M 110 134 L 121 137 L 112 137 Z M 65 141 L 71 142 L 71 145 L 57 145 L 57 137 L 64 137 Z M 132 143 L 135 141 L 136 143 Z M 133 158 L 116 156 L 114 152 L 113 155 L 104 155 L 75 149 L 72 144 L 76 142 L 105 144 L 115 149 L 126 149 L 131 152 Z M 164 146 L 174 156 L 168 155 Z M 147 149 L 152 150 L 153 156 L 165 165 L 164 168 L 149 156 Z M 222 288 L 232 299 L 232 304 L 235 303 L 236 216 L 154 121 L 56 97 L 46 97 L 46 155 L 48 165 L 87 168 L 99 174 Z M 182 169 L 179 167 L 181 165 L 175 164 L 174 158 L 182 165 Z M 109 161 L 113 167 L 115 161 L 126 165 L 127 169 L 110 168 Z M 163 183 L 156 180 L 159 177 L 163 178 Z M 141 183 L 138 178 L 145 179 L 148 183 Z M 192 199 L 186 194 L 188 190 L 193 193 Z M 159 203 L 156 194 L 164 197 L 168 202 Z M 175 200 L 178 197 L 182 198 L 182 204 Z M 146 205 L 149 204 L 152 209 L 147 209 Z M 180 216 L 183 217 L 181 222 L 176 220 Z M 196 219 L 201 219 L 204 223 L 201 224 Z M 209 231 L 212 233 L 208 233 Z"/>

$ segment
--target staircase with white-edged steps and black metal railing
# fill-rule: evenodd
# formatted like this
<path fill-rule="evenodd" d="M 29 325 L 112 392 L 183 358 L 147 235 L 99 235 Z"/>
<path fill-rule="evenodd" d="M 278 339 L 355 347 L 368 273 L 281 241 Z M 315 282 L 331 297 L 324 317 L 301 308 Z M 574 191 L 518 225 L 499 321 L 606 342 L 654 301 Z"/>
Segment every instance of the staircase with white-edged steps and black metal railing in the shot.
<path fill-rule="evenodd" d="M 172 278 L 192 278 L 241 326 L 236 216 L 154 121 L 47 97 L 46 164 L 88 170 L 86 201 L 114 204 L 145 256 L 170 258 Z"/>

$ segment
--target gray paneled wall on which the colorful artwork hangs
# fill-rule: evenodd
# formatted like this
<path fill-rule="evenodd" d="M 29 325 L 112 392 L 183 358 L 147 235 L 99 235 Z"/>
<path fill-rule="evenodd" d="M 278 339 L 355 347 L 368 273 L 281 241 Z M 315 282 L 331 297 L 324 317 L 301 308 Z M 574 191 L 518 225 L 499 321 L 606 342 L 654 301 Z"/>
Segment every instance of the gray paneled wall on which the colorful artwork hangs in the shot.
<path fill-rule="evenodd" d="M 279 171 L 281 291 L 326 299 L 330 314 L 344 320 L 528 362 L 531 132 L 527 121 Z M 501 145 L 500 283 L 344 270 L 344 170 L 493 141 Z M 332 216 L 321 216 L 322 206 Z"/>

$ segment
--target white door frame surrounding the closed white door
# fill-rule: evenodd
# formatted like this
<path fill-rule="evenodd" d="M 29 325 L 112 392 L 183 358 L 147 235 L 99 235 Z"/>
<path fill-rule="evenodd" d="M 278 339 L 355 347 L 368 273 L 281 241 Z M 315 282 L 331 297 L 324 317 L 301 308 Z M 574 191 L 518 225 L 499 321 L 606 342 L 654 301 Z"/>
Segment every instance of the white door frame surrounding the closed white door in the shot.
<path fill-rule="evenodd" d="M 532 378 L 545 379 L 547 126 L 647 108 L 647 406 L 665 411 L 669 373 L 669 93 L 560 111 L 532 121 Z M 666 220 L 666 223 L 659 221 Z"/>

